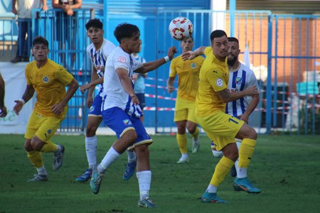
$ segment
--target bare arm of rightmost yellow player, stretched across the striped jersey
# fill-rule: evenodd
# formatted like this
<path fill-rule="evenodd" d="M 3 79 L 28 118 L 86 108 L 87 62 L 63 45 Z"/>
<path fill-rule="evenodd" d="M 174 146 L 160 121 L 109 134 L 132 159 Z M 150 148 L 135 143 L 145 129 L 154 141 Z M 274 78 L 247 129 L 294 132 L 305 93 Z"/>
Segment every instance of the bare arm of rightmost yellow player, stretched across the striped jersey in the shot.
<path fill-rule="evenodd" d="M 259 93 L 260 93 L 259 89 L 257 89 L 256 86 L 248 87 L 247 89 L 242 90 L 240 92 L 229 92 L 228 89 L 223 89 L 217 92 L 220 99 L 225 103 L 233 102 L 237 99 L 245 97 L 246 95 L 252 96 L 254 94 L 259 94 Z"/>

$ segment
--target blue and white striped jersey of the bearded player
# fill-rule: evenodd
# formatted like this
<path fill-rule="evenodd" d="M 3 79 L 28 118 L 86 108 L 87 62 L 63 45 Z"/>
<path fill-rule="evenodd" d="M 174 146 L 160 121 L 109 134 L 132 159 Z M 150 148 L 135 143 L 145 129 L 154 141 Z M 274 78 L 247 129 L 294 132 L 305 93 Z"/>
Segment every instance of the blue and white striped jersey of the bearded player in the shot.
<path fill-rule="evenodd" d="M 259 89 L 259 84 L 257 83 L 255 73 L 241 62 L 238 70 L 229 72 L 229 92 L 239 92 L 253 85 L 257 86 Z M 227 106 L 225 107 L 225 113 L 235 117 L 240 116 L 245 112 L 245 109 L 247 109 L 247 106 L 250 104 L 251 100 L 251 96 L 245 96 L 233 102 L 228 102 Z"/>

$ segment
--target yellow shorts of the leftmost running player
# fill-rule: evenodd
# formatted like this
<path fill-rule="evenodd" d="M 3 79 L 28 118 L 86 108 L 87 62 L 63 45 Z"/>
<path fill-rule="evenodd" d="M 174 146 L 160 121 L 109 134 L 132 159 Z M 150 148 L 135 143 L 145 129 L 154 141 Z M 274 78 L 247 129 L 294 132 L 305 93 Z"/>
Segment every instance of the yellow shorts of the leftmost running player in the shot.
<path fill-rule="evenodd" d="M 33 110 L 28 121 L 24 137 L 31 139 L 33 136 L 37 136 L 41 141 L 49 141 L 55 134 L 55 131 L 59 128 L 62 121 L 63 120 L 55 117 L 43 116 Z"/>

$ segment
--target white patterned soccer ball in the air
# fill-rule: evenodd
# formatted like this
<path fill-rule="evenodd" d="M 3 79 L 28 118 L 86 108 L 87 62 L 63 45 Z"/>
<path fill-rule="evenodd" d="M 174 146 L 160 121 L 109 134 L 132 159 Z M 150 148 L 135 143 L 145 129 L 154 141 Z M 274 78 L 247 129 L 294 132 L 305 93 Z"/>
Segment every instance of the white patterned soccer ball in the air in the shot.
<path fill-rule="evenodd" d="M 193 33 L 193 24 L 188 18 L 179 16 L 170 22 L 169 33 L 176 40 L 186 40 Z"/>

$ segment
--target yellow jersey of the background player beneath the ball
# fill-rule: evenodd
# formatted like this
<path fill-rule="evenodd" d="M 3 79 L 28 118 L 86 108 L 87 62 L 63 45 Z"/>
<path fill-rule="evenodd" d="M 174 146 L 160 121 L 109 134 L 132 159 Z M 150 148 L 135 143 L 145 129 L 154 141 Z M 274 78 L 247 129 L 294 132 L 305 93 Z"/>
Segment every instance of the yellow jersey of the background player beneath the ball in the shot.
<path fill-rule="evenodd" d="M 191 102 L 196 101 L 199 72 L 203 61 L 202 56 L 183 61 L 181 55 L 171 61 L 169 77 L 178 75 L 178 97 Z"/>

